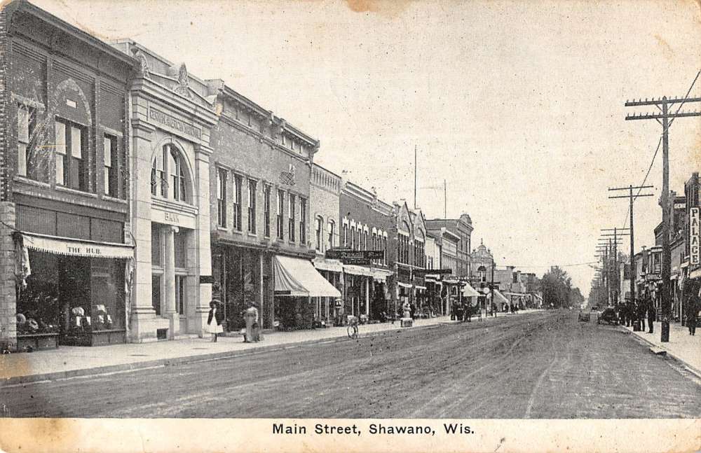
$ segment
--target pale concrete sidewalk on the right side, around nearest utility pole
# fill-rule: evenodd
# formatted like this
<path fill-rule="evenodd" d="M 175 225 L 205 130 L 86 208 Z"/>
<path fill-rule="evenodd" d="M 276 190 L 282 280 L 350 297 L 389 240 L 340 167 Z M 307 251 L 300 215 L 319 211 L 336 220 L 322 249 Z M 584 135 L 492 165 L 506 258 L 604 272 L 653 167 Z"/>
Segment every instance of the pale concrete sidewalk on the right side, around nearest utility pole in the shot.
<path fill-rule="evenodd" d="M 701 377 L 701 328 L 696 328 L 696 335 L 689 335 L 689 330 L 681 323 L 669 324 L 669 342 L 662 343 L 660 341 L 660 332 L 662 325 L 659 322 L 654 323 L 653 333 L 648 333 L 649 327 L 646 321 L 646 330 L 644 332 L 633 332 L 632 327 L 625 327 L 633 335 L 648 342 L 653 347 L 664 349 L 667 355 L 676 358 L 688 366 L 695 375 Z"/>

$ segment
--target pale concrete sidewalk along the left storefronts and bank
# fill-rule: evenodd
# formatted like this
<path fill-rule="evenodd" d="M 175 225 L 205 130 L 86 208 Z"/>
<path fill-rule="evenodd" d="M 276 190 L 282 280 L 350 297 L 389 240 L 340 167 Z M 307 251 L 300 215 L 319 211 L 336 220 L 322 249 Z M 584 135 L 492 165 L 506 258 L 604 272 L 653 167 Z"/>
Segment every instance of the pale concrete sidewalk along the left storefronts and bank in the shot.
<path fill-rule="evenodd" d="M 537 310 L 522 310 L 529 313 Z M 499 314 L 498 319 L 505 314 Z M 517 316 L 509 314 L 508 316 Z M 477 318 L 472 318 L 477 322 Z M 428 328 L 445 323 L 456 323 L 449 316 L 430 319 L 415 319 L 413 328 Z M 379 323 L 360 326 L 360 336 L 381 332 L 406 330 L 400 323 Z M 299 344 L 347 339 L 346 327 L 329 327 L 292 332 L 275 332 L 264 335 L 257 343 L 244 343 L 242 337 L 219 337 L 216 343 L 210 338 L 112 344 L 100 347 L 61 346 L 58 349 L 34 351 L 0 356 L 0 384 L 19 384 L 48 379 L 97 375 L 108 372 L 137 370 L 177 363 L 215 360 L 247 354 L 295 347 Z"/>

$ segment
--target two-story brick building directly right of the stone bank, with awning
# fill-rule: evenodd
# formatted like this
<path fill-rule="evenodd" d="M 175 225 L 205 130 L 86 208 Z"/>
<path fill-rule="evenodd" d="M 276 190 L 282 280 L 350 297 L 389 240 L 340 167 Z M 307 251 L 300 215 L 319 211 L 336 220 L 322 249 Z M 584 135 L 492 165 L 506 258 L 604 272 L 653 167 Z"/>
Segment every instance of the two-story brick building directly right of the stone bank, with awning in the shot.
<path fill-rule="evenodd" d="M 339 291 L 313 267 L 309 197 L 319 142 L 224 85 L 209 81 L 219 121 L 212 130 L 212 274 L 227 330 L 259 309 L 264 328 L 308 328 L 310 298 Z"/>

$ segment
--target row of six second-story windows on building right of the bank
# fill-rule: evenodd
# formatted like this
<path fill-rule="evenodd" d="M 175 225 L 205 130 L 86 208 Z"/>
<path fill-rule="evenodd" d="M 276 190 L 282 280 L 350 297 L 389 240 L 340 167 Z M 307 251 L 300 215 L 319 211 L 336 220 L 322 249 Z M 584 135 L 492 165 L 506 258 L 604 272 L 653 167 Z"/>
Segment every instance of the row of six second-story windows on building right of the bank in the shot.
<path fill-rule="evenodd" d="M 229 170 L 217 169 L 217 225 L 227 228 L 227 184 L 229 181 Z M 245 181 L 247 189 L 246 211 L 247 211 L 247 231 L 251 234 L 257 233 L 257 194 L 259 190 L 258 181 L 247 179 Z M 244 177 L 240 174 L 233 174 L 233 203 L 231 203 L 231 227 L 235 231 L 243 231 L 243 184 Z M 263 192 L 263 234 L 271 237 L 271 195 L 272 186 L 264 183 Z M 278 239 L 285 239 L 285 190 L 278 190 L 277 212 L 275 214 L 275 235 Z M 287 194 L 288 218 L 287 218 L 287 238 L 290 242 L 296 242 L 296 232 L 299 228 L 299 243 L 306 243 L 306 209 L 307 202 L 304 197 L 299 197 L 299 223 L 297 222 L 297 195 Z"/>

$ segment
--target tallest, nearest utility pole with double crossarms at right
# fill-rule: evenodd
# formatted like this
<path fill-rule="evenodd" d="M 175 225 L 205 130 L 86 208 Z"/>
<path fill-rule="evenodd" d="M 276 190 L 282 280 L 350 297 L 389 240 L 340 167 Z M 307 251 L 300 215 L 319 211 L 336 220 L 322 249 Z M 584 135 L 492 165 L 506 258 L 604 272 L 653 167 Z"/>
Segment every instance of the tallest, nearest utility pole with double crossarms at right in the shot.
<path fill-rule="evenodd" d="M 701 71 L 699 72 L 701 74 Z M 696 75 L 698 78 L 699 74 Z M 696 79 L 694 79 L 694 83 Z M 693 84 L 691 85 L 693 87 Z M 690 89 L 689 89 L 690 90 Z M 688 94 L 687 94 L 688 96 Z M 656 106 L 660 109 L 660 113 L 640 113 L 627 115 L 626 120 L 656 120 L 662 125 L 662 197 L 660 206 L 662 207 L 662 330 L 660 333 L 660 341 L 669 342 L 669 318 L 672 312 L 672 286 L 669 278 L 672 274 L 672 250 L 669 247 L 669 126 L 672 125 L 675 118 L 701 116 L 701 112 L 690 111 L 681 112 L 683 104 L 701 102 L 701 97 L 682 97 L 668 99 L 666 96 L 662 99 L 639 99 L 637 101 L 629 101 L 625 103 L 626 107 L 632 106 Z M 669 107 L 679 105 L 676 112 L 670 113 Z"/>

